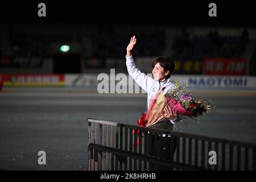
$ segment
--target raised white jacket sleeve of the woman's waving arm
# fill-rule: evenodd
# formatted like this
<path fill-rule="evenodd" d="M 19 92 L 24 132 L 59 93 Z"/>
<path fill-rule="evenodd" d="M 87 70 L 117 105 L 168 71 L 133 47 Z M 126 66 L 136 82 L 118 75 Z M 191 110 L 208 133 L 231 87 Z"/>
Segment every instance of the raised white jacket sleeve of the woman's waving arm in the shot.
<path fill-rule="evenodd" d="M 139 71 L 134 63 L 133 56 L 126 56 L 126 67 L 129 75 L 137 82 L 137 84 L 147 93 L 150 93 L 154 79 Z"/>

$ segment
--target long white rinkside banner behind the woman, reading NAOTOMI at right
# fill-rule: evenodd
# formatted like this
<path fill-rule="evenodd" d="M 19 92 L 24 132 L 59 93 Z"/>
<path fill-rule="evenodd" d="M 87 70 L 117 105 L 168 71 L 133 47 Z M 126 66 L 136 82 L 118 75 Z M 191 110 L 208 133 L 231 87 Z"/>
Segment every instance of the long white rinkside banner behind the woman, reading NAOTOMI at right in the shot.
<path fill-rule="evenodd" d="M 65 74 L 66 86 L 97 86 L 102 82 L 109 85 L 122 84 L 123 86 L 138 86 L 133 78 L 124 73 L 117 73 L 112 70 L 112 74 Z M 150 73 L 147 74 L 152 77 Z M 104 78 L 105 76 L 105 78 Z M 121 78 L 122 77 L 122 78 Z M 121 79 L 120 79 L 121 78 Z M 201 76 L 201 75 L 173 75 L 172 82 L 175 80 L 186 81 L 189 88 L 256 88 L 256 77 L 254 76 Z"/>

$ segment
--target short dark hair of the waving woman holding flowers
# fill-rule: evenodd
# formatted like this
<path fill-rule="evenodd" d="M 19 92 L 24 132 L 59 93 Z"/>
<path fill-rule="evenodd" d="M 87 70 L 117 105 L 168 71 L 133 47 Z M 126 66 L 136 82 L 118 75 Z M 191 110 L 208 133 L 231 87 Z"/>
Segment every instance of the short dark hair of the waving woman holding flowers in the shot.
<path fill-rule="evenodd" d="M 167 78 L 171 76 L 172 72 L 174 72 L 174 61 L 169 59 L 168 57 L 160 56 L 157 57 L 153 63 L 152 68 L 155 68 L 155 65 L 159 63 L 161 67 L 163 67 L 164 71 L 169 71 L 169 74 L 167 75 Z"/>

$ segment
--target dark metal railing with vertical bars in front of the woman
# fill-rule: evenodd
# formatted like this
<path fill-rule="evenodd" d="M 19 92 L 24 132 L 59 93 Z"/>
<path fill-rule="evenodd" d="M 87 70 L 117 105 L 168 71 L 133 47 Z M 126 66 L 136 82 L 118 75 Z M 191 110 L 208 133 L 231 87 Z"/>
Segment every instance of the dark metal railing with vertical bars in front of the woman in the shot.
<path fill-rule="evenodd" d="M 256 144 L 88 119 L 89 171 L 247 171 L 255 160 Z"/>

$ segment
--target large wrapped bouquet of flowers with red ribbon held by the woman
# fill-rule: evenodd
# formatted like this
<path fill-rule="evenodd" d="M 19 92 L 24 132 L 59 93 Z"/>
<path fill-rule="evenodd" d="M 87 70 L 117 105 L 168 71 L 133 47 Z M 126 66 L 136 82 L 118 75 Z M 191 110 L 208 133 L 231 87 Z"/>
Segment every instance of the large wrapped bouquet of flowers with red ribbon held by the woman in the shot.
<path fill-rule="evenodd" d="M 193 98 L 187 82 L 175 80 L 175 88 L 168 90 L 167 96 L 164 96 L 163 92 L 158 92 L 151 98 L 147 114 L 142 114 L 142 118 L 138 120 L 138 125 L 150 127 L 163 121 L 166 119 L 164 109 L 168 106 L 176 112 L 179 118 L 189 117 L 196 120 L 215 107 L 212 101 Z"/>

